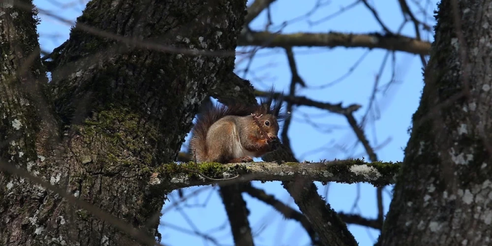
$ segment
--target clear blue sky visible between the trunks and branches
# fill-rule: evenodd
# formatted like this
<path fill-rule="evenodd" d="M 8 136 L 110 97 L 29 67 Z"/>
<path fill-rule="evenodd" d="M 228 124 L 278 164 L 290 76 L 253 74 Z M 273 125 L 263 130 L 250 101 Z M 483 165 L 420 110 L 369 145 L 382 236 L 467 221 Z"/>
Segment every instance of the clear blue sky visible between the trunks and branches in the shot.
<path fill-rule="evenodd" d="M 66 1 L 66 6 L 50 0 L 34 0 L 34 4 L 42 9 L 50 10 L 65 19 L 73 20 L 81 14 L 87 0 Z M 71 3 L 68 3 L 71 2 Z M 275 26 L 283 21 L 307 13 L 315 4 L 316 0 L 305 0 L 301 4 L 296 0 L 277 0 L 272 5 L 272 18 Z M 348 5 L 352 1 L 332 0 L 330 4 L 320 9 L 310 17 L 310 20 L 318 20 L 330 13 L 338 11 L 341 6 Z M 403 17 L 398 6 L 398 1 L 373 1 L 375 9 L 379 12 L 382 21 L 392 30 L 396 31 Z M 411 4 L 412 1 L 408 1 Z M 427 6 L 428 16 L 436 9 L 437 0 L 432 0 Z M 251 0 L 248 1 L 248 4 Z M 414 8 L 415 10 L 415 8 Z M 422 20 L 422 14 L 417 15 Z M 39 15 L 41 24 L 38 27 L 41 48 L 52 51 L 68 38 L 70 26 L 53 20 L 47 16 Z M 262 13 L 251 25 L 253 29 L 262 29 L 266 23 L 266 14 Z M 430 19 L 431 26 L 434 24 Z M 290 24 L 283 30 L 289 32 L 327 32 L 342 31 L 354 33 L 366 33 L 381 31 L 372 14 L 363 4 L 338 15 L 328 22 L 316 26 L 309 26 L 306 21 Z M 408 23 L 402 34 L 414 36 L 413 26 Z M 425 35 L 424 38 L 432 36 Z M 295 48 L 295 58 L 301 77 L 310 87 L 320 86 L 334 81 L 345 74 L 348 69 L 367 51 L 362 48 Z M 299 94 L 323 102 L 338 103 L 344 106 L 357 103 L 363 105 L 356 114 L 358 120 L 367 110 L 369 97 L 372 92 L 376 74 L 386 52 L 384 50 L 371 51 L 355 71 L 340 83 L 319 89 L 300 89 Z M 237 59 L 240 60 L 239 58 Z M 391 62 L 385 66 L 385 71 L 380 79 L 380 85 L 387 84 L 391 78 Z M 237 69 L 244 68 L 246 62 L 239 63 Z M 396 82 L 393 83 L 385 94 L 378 94 L 378 107 L 374 111 L 378 119 L 367 125 L 366 133 L 372 146 L 380 146 L 376 149 L 378 158 L 383 161 L 401 161 L 403 151 L 408 141 L 407 129 L 411 123 L 411 116 L 415 112 L 421 90 L 423 88 L 421 62 L 418 56 L 398 52 L 395 57 Z M 285 53 L 282 49 L 268 49 L 259 52 L 251 64 L 254 75 L 248 74 L 246 79 L 252 81 L 258 89 L 268 89 L 275 84 L 277 90 L 288 91 L 291 73 L 288 67 Z M 243 73 L 238 73 L 243 77 Z M 263 78 L 259 81 L 257 78 Z M 316 123 L 318 128 L 307 123 L 307 114 L 310 121 Z M 329 114 L 325 111 L 309 107 L 297 107 L 294 111 L 294 121 L 289 132 L 292 148 L 297 157 L 306 160 L 328 160 L 335 158 L 362 157 L 367 155 L 364 149 L 358 145 L 353 148 L 355 135 L 349 128 L 346 120 L 338 115 Z M 189 136 L 188 136 L 189 137 Z M 187 139 L 188 139 L 187 137 Z M 389 141 L 389 142 L 387 142 Z M 186 143 L 187 144 L 187 143 Z M 348 149 L 343 150 L 343 149 Z M 312 152 L 313 150 L 317 150 Z M 253 185 L 266 190 L 297 209 L 289 194 L 281 187 L 279 182 L 261 184 L 253 182 Z M 375 218 L 376 199 L 375 188 L 368 184 L 347 185 L 329 184 L 328 193 L 326 186 L 317 184 L 319 193 L 327 195 L 330 205 L 336 211 L 346 213 L 355 212 L 370 218 Z M 357 187 L 360 187 L 358 205 L 352 209 L 357 196 Z M 218 241 L 220 245 L 232 245 L 232 236 L 227 222 L 223 205 L 216 192 L 216 187 L 193 187 L 184 190 L 184 195 L 201 192 L 187 202 L 173 209 L 166 209 L 178 201 L 176 192 L 169 195 L 170 201 L 164 206 L 165 214 L 161 217 L 163 226 L 159 227 L 162 233 L 162 243 L 171 246 L 183 245 L 214 245 L 206 241 L 199 234 L 209 234 Z M 199 190 L 199 191 L 200 191 Z M 390 191 L 390 188 L 387 188 Z M 388 210 L 390 198 L 389 192 L 384 194 L 385 213 Z M 249 217 L 253 233 L 257 235 L 258 246 L 302 246 L 307 245 L 309 239 L 299 223 L 285 220 L 271 207 L 264 205 L 254 198 L 244 195 L 247 206 L 251 211 Z M 191 223 L 189 221 L 192 221 Z M 181 229 L 178 229 L 181 228 Z M 354 234 L 360 246 L 371 246 L 377 239 L 378 231 L 367 229 L 357 225 L 349 225 L 349 230 Z"/>

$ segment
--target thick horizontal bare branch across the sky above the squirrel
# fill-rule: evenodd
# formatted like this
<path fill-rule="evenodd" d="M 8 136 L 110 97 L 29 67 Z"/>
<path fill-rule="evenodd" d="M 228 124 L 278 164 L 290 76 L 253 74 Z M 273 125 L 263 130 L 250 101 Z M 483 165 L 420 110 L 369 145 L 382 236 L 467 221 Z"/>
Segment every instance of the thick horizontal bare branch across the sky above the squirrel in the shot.
<path fill-rule="evenodd" d="M 238 46 L 263 47 L 362 47 L 380 48 L 385 50 L 403 51 L 412 54 L 429 55 L 431 43 L 403 35 L 379 33 L 353 34 L 342 32 L 328 33 L 290 33 L 276 34 L 266 31 L 242 32 L 238 38 Z"/>

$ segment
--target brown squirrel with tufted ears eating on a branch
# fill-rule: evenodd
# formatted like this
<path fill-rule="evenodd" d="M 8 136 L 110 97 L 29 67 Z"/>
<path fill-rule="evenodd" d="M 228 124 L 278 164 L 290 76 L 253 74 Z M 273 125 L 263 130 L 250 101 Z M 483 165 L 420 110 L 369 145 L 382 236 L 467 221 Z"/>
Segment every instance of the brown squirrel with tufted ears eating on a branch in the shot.
<path fill-rule="evenodd" d="M 255 106 L 204 107 L 192 130 L 190 150 L 198 162 L 251 162 L 277 149 L 282 100 L 269 96 Z"/>

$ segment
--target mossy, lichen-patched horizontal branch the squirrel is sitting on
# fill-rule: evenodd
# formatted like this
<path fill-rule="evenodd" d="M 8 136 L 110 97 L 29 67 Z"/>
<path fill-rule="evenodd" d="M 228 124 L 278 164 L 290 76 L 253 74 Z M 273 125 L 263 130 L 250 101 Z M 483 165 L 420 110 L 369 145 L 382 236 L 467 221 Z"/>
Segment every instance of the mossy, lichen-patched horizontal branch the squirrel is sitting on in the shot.
<path fill-rule="evenodd" d="M 169 163 L 153 168 L 150 182 L 168 191 L 214 183 L 232 184 L 253 180 L 295 181 L 296 179 L 345 184 L 366 182 L 374 186 L 384 186 L 395 183 L 400 165 L 400 162 L 367 163 L 362 159 L 312 163 Z M 238 176 L 236 179 L 230 179 L 236 176 Z M 225 180 L 217 181 L 217 179 Z"/>

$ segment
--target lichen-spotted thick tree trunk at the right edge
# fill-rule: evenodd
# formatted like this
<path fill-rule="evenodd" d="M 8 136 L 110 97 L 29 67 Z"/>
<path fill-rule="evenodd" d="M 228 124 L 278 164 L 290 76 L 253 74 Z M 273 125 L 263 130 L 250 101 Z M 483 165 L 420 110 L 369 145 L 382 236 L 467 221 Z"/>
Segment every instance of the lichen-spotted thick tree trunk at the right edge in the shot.
<path fill-rule="evenodd" d="M 436 18 L 383 246 L 491 245 L 492 1 L 441 1 Z"/>

